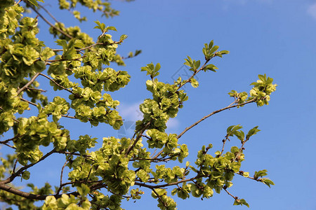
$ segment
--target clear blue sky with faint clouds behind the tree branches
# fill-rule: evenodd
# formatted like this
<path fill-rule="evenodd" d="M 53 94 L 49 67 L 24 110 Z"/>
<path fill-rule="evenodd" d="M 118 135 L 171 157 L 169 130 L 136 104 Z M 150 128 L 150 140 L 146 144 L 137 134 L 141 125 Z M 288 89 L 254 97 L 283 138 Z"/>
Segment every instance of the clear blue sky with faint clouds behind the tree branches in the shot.
<path fill-rule="evenodd" d="M 268 188 L 250 179 L 235 177 L 231 193 L 244 198 L 251 209 L 316 209 L 316 1 L 112 2 L 113 7 L 121 11 L 118 17 L 100 18 L 99 14 L 84 10 L 88 22 L 82 23 L 81 27 L 96 40 L 100 34 L 93 29 L 93 21 L 100 20 L 105 25 L 117 27 L 114 38 L 118 39 L 121 34 L 129 36 L 119 46 L 121 55 L 143 50 L 138 57 L 127 59 L 125 67 L 114 66 L 114 69 L 129 71 L 131 75 L 129 85 L 113 94 L 114 99 L 121 102 L 119 111 L 126 121 L 139 118 L 138 104 L 151 97 L 145 90 L 148 77 L 140 72 L 140 67 L 159 62 L 162 65 L 159 80 L 172 82 L 177 73 L 185 73 L 184 58 L 189 55 L 193 59 L 203 59 L 204 43 L 214 40 L 220 49 L 230 50 L 230 55 L 212 60 L 212 64 L 218 66 L 218 72 L 199 74 L 197 89 L 185 86 L 189 101 L 185 102 L 178 117 L 169 123 L 168 132 L 179 134 L 199 118 L 228 106 L 232 102 L 227 94 L 230 90 L 249 92 L 249 84 L 257 80 L 258 74 L 266 73 L 279 85 L 269 106 L 258 108 L 249 104 L 218 113 L 187 132 L 180 143 L 190 148 L 187 160 L 194 162 L 202 145 L 212 143 L 213 153 L 220 150 L 228 126 L 241 124 L 247 132 L 258 125 L 261 132 L 247 143 L 242 170 L 252 175 L 254 171 L 268 169 L 268 177 L 275 181 L 275 186 Z M 70 17 L 67 12 L 60 12 L 54 5 L 46 8 L 67 26 L 79 25 L 76 20 L 67 18 Z M 40 22 L 40 27 L 39 38 L 48 46 L 54 45 L 53 38 L 45 35 L 44 22 Z M 55 93 L 48 93 L 53 98 Z M 118 135 L 106 125 L 91 128 L 84 123 L 73 123 L 71 119 L 63 119 L 62 123 L 73 131 L 72 139 L 84 134 L 100 139 Z M 130 134 L 131 130 L 126 133 Z M 236 139 L 228 146 L 235 145 L 239 146 Z M 6 148 L 1 148 L 1 153 L 6 152 Z M 34 169 L 30 181 L 37 180 L 42 185 L 59 177 L 64 160 L 57 157 L 48 162 L 50 168 L 47 168 L 47 162 L 40 164 Z M 43 171 L 47 173 L 42 174 Z M 58 182 L 56 179 L 55 185 Z M 21 185 L 20 181 L 16 184 Z M 142 200 L 124 202 L 123 207 L 157 209 L 157 202 L 150 198 L 150 192 L 145 193 Z M 232 197 L 225 192 L 203 201 L 193 197 L 188 200 L 175 197 L 175 200 L 178 209 L 246 209 L 232 206 Z"/>

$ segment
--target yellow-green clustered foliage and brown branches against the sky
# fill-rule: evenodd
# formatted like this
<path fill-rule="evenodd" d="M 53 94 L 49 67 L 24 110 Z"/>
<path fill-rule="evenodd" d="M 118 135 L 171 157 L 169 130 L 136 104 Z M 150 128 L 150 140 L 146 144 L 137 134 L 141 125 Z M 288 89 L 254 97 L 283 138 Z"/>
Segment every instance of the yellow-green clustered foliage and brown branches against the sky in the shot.
<path fill-rule="evenodd" d="M 100 30 L 100 36 L 93 42 L 93 38 L 81 32 L 79 27 L 65 27 L 57 20 L 54 25 L 46 21 L 51 25 L 49 33 L 57 38 L 55 42 L 60 48 L 46 47 L 37 38 L 37 18 L 29 18 L 23 13 L 30 8 L 44 18 L 42 13 L 47 10 L 41 2 L 6 0 L 0 3 L 0 134 L 10 134 L 11 130 L 14 134 L 11 139 L 0 141 L 2 146 L 12 149 L 12 155 L 1 158 L 2 202 L 19 209 L 121 209 L 121 200 L 139 200 L 144 194 L 140 190 L 143 187 L 152 191 L 160 209 L 176 209 L 170 193 L 182 199 L 190 195 L 209 198 L 222 190 L 233 197 L 235 205 L 249 207 L 244 199 L 228 191 L 235 174 L 269 187 L 274 185 L 263 177 L 267 175 L 266 170 L 255 172 L 254 176 L 241 171 L 244 146 L 259 131 L 258 126 L 246 135 L 241 125 L 228 127 L 220 151 L 211 155 L 212 144 L 202 146 L 196 161 L 185 165 L 181 163 L 189 154 L 189 148 L 178 141 L 187 130 L 215 113 L 251 103 L 268 105 L 270 94 L 276 88 L 272 78 L 259 75 L 259 79 L 251 84 L 254 87 L 250 94 L 232 90 L 229 93 L 234 98 L 232 104 L 204 116 L 180 134 L 165 132 L 168 120 L 177 116 L 188 99 L 181 87 L 187 83 L 198 87 L 197 73 L 216 71 L 218 68 L 209 64 L 211 59 L 229 53 L 218 51 L 219 47 L 213 41 L 204 45 L 204 61 L 185 59 L 185 65 L 192 71 L 187 80 L 179 77 L 174 83 L 162 83 L 157 78 L 160 64 L 147 64 L 141 69 L 150 76 L 146 87 L 152 97 L 140 104 L 143 120 L 136 122 L 133 137 L 105 137 L 100 147 L 97 147 L 97 139 L 89 135 L 70 139 L 70 131 L 60 124 L 60 118 L 80 120 L 91 126 L 106 123 L 115 130 L 123 124 L 117 111 L 119 102 L 112 99 L 110 92 L 125 87 L 130 76 L 126 71 L 117 71 L 110 66 L 113 62 L 124 65 L 117 48 L 127 36 L 122 35 L 118 41 L 113 41 L 109 32 L 116 29 L 96 21 L 95 28 Z M 78 3 L 93 11 L 101 11 L 106 17 L 118 15 L 108 1 L 59 0 L 60 9 L 71 10 L 74 18 L 85 21 L 86 18 L 74 10 Z M 139 53 L 140 50 L 136 50 L 134 55 Z M 131 52 L 129 57 L 134 55 Z M 38 88 L 39 77 L 46 78 L 55 90 L 51 102 L 48 102 L 45 91 Z M 60 97 L 58 90 L 67 92 L 68 99 Z M 31 106 L 37 110 L 37 115 L 27 117 L 25 111 Z M 69 116 L 70 112 L 74 116 Z M 232 137 L 237 137 L 240 144 L 225 151 L 225 143 Z M 50 146 L 52 150 L 44 154 L 42 146 Z M 90 148 L 94 148 L 93 151 L 89 151 Z M 152 153 L 151 148 L 160 151 Z M 49 183 L 42 188 L 29 183 L 32 189 L 29 192 L 13 186 L 12 182 L 18 177 L 32 180 L 29 169 L 51 155 L 65 157 L 61 174 L 64 167 L 70 169 L 68 182 L 61 179 L 60 186 L 55 189 Z M 162 162 L 178 164 L 168 167 Z M 34 202 L 37 200 L 44 200 L 42 207 L 36 207 Z"/>

